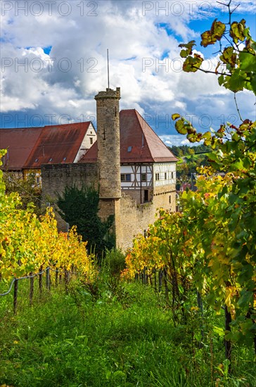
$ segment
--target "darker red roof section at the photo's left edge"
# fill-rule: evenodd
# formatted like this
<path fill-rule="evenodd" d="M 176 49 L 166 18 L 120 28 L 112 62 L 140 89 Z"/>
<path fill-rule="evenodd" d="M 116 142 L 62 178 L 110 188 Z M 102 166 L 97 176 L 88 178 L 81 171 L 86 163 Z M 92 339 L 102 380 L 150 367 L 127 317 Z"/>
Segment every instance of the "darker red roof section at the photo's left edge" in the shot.
<path fill-rule="evenodd" d="M 4 168 L 22 170 L 34 144 L 41 134 L 42 127 L 0 129 L 0 148 L 7 149 Z"/>

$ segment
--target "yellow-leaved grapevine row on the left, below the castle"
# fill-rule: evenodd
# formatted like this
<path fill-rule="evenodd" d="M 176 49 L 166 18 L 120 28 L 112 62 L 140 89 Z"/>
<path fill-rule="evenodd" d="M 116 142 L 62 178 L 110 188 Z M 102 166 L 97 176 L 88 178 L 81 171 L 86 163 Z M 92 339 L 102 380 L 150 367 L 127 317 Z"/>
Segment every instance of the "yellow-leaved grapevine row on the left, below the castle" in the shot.
<path fill-rule="evenodd" d="M 0 151 L 4 156 L 6 151 Z M 69 234 L 59 233 L 51 210 L 41 217 L 19 206 L 20 196 L 7 195 L 0 170 L 0 274 L 1 279 L 23 277 L 46 267 L 70 270 L 88 279 L 94 277 L 93 256 L 87 243 L 72 228 Z"/>

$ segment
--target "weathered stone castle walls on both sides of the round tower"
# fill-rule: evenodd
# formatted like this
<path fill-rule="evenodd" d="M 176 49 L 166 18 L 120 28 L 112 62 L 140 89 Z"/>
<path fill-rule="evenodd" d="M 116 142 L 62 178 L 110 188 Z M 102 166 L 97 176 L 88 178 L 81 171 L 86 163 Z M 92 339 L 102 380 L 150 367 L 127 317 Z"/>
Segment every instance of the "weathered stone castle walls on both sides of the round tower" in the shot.
<path fill-rule="evenodd" d="M 56 199 L 57 192 L 63 193 L 65 186 L 75 184 L 81 188 L 83 184 L 86 186 L 94 184 L 98 187 L 98 167 L 94 163 L 43 165 L 41 177 L 44 201 L 51 203 Z M 122 192 L 122 197 L 115 201 L 106 200 L 100 203 L 100 210 L 105 213 L 105 217 L 110 213 L 115 214 L 117 246 L 124 251 L 132 247 L 132 239 L 136 234 L 143 233 L 149 224 L 155 222 L 158 208 L 175 211 L 176 198 L 174 185 L 156 187 L 153 201 L 141 205 L 126 193 L 127 191 L 125 194 Z M 65 231 L 65 222 L 61 222 L 59 217 L 57 220 L 58 227 Z"/>

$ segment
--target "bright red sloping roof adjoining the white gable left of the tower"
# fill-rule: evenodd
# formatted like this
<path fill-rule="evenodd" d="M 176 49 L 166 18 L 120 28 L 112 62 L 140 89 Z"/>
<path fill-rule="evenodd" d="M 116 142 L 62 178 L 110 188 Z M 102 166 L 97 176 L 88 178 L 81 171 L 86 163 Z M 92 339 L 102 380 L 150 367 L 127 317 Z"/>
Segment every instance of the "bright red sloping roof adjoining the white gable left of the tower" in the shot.
<path fill-rule="evenodd" d="M 38 168 L 49 163 L 73 163 L 90 123 L 45 126 L 24 168 Z"/>

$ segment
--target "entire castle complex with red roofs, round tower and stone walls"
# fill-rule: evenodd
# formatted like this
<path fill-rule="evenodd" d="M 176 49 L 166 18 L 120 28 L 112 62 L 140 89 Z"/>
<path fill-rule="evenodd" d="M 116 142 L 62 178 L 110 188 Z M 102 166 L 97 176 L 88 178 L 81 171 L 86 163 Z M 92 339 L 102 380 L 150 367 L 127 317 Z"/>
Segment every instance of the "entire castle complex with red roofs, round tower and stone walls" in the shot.
<path fill-rule="evenodd" d="M 120 98 L 118 87 L 95 96 L 97 132 L 91 122 L 0 129 L 0 148 L 8 149 L 2 169 L 33 172 L 45 201 L 66 186 L 99 186 L 99 215 L 114 216 L 117 247 L 126 250 L 159 208 L 176 210 L 178 159 L 136 110 L 120 111 Z"/>

